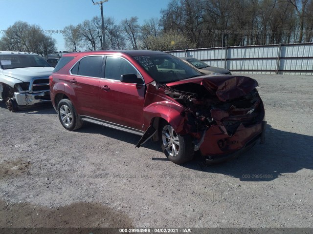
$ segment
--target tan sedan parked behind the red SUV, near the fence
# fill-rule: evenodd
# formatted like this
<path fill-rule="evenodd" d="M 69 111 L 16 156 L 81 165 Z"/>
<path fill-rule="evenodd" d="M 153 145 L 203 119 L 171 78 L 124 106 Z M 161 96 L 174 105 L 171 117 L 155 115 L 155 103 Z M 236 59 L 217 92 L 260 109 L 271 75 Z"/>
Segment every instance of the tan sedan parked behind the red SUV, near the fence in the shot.
<path fill-rule="evenodd" d="M 231 72 L 229 70 L 220 67 L 210 66 L 199 59 L 194 59 L 191 57 L 180 57 L 179 59 L 183 60 L 184 62 L 188 63 L 189 65 L 193 66 L 198 71 L 206 75 L 231 75 Z"/>

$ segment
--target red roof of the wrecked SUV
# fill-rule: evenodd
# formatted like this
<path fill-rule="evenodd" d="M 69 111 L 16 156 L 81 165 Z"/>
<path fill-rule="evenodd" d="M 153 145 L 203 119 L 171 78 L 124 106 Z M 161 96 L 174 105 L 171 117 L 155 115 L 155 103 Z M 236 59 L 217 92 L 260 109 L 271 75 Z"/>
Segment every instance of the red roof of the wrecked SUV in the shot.
<path fill-rule="evenodd" d="M 106 52 L 109 52 L 110 54 L 114 53 L 122 53 L 122 54 L 128 54 L 130 56 L 142 56 L 142 55 L 162 55 L 167 53 L 161 52 L 161 51 L 153 51 L 153 50 L 96 50 L 96 51 L 84 51 L 84 52 L 73 52 L 73 53 L 67 53 L 66 55 L 63 56 L 77 56 L 81 54 L 105 54 Z"/>

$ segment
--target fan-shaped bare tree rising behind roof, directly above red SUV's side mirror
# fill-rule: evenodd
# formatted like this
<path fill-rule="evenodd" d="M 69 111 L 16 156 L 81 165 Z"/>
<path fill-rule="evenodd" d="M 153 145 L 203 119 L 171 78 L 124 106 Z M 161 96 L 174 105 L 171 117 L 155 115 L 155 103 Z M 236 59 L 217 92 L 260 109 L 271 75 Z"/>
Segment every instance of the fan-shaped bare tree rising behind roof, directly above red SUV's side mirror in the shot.
<path fill-rule="evenodd" d="M 137 42 L 139 38 L 140 25 L 138 24 L 138 17 L 131 17 L 131 19 L 122 20 L 121 26 L 126 34 L 126 39 L 132 44 L 133 49 L 137 50 Z"/>

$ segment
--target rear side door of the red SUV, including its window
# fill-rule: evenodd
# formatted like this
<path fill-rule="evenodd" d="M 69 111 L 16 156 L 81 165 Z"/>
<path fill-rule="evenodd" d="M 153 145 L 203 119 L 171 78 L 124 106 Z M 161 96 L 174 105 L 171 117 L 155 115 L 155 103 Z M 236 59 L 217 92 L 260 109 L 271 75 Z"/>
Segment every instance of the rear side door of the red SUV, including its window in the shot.
<path fill-rule="evenodd" d="M 70 70 L 74 106 L 79 115 L 99 117 L 99 82 L 103 77 L 103 55 L 86 56 Z"/>

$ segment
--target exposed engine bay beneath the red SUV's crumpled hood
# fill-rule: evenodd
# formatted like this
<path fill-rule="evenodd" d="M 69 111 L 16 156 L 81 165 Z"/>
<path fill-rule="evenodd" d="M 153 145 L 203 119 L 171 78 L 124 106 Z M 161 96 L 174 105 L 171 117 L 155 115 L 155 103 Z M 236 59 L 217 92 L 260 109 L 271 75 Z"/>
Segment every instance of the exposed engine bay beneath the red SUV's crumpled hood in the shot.
<path fill-rule="evenodd" d="M 219 100 L 213 92 L 195 83 L 167 87 L 165 93 L 189 110 L 185 114 L 190 133 L 221 125 L 224 132 L 232 136 L 241 123 L 248 126 L 264 118 L 263 104 L 256 89 L 227 101 Z"/>

